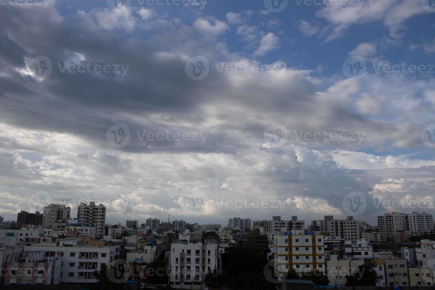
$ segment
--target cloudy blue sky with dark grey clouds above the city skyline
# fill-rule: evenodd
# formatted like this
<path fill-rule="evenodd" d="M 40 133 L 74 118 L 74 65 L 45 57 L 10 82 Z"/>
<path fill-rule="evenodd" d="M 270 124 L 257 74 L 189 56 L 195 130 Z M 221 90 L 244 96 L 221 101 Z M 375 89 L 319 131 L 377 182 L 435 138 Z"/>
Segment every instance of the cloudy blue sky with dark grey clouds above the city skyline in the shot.
<path fill-rule="evenodd" d="M 0 215 L 434 213 L 433 0 L 1 0 Z"/>

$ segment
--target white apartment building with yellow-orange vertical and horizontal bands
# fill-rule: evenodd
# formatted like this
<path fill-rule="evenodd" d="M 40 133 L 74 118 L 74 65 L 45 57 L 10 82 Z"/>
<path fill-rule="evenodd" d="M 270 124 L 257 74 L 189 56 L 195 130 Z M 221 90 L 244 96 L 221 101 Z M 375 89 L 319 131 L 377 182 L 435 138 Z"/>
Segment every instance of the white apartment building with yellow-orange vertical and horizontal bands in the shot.
<path fill-rule="evenodd" d="M 325 244 L 319 234 L 277 234 L 274 236 L 275 271 L 325 273 Z"/>

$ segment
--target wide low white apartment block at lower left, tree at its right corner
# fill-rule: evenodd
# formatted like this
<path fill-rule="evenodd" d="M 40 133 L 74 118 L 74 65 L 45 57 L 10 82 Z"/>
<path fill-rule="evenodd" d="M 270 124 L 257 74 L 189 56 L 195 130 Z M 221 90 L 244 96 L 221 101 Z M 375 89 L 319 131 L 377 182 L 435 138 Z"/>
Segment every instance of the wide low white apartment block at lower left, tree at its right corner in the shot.
<path fill-rule="evenodd" d="M 45 258 L 62 258 L 60 283 L 96 283 L 94 271 L 101 264 L 109 266 L 118 259 L 119 247 L 78 246 L 73 240 L 69 246 L 32 244 L 24 246 L 25 252 L 45 251 Z"/>

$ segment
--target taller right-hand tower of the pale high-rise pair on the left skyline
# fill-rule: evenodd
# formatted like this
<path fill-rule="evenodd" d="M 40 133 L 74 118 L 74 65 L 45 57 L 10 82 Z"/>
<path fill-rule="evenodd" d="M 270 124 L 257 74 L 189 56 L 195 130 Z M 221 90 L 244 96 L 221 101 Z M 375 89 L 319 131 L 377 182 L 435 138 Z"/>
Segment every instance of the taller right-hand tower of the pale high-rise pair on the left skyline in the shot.
<path fill-rule="evenodd" d="M 90 223 L 96 227 L 96 237 L 104 237 L 104 225 L 106 224 L 106 207 L 100 203 L 95 205 L 93 201 L 87 205 L 80 203 L 77 207 L 77 220 L 79 223 Z"/>

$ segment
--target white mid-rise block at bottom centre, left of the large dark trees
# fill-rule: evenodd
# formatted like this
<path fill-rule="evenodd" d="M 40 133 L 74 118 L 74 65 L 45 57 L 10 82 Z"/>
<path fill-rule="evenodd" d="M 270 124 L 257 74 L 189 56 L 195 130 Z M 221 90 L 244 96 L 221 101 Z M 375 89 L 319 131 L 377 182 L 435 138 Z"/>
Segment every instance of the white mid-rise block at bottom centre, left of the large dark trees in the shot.
<path fill-rule="evenodd" d="M 173 243 L 165 259 L 169 284 L 175 289 L 204 289 L 205 275 L 221 270 L 217 244 Z"/>

